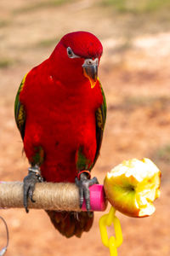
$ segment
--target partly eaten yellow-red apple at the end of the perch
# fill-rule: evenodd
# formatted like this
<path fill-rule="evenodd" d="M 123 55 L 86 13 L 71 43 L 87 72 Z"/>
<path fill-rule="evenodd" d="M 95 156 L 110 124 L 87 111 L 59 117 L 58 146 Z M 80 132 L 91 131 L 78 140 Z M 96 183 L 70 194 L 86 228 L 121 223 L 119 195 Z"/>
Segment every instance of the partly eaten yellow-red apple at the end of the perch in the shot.
<path fill-rule="evenodd" d="M 161 171 L 149 159 L 124 160 L 108 172 L 105 195 L 116 210 L 130 217 L 155 212 L 152 202 L 160 195 Z"/>

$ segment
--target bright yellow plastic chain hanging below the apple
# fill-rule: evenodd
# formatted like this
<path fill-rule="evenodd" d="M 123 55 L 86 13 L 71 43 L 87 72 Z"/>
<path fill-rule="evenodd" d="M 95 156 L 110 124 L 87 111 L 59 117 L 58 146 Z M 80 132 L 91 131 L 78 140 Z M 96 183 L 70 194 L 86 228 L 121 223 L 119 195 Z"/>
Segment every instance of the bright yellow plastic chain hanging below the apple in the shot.
<path fill-rule="evenodd" d="M 99 230 L 101 235 L 101 240 L 105 247 L 110 248 L 111 256 L 117 256 L 117 247 L 122 245 L 122 229 L 121 224 L 118 218 L 115 216 L 116 209 L 111 207 L 111 210 L 108 214 L 103 215 L 99 219 Z M 115 236 L 108 237 L 107 226 L 113 224 L 115 229 Z"/>

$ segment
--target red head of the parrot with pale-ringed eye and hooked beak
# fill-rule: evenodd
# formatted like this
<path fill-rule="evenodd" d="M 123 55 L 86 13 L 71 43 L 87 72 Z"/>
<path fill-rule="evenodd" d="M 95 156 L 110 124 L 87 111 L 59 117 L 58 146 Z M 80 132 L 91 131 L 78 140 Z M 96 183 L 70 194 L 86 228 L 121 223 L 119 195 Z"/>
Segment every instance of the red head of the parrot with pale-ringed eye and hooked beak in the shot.
<path fill-rule="evenodd" d="M 102 44 L 92 33 L 68 33 L 61 38 L 50 56 L 53 75 L 66 84 L 76 81 L 80 84 L 89 80 L 91 88 L 94 88 L 102 52 Z"/>

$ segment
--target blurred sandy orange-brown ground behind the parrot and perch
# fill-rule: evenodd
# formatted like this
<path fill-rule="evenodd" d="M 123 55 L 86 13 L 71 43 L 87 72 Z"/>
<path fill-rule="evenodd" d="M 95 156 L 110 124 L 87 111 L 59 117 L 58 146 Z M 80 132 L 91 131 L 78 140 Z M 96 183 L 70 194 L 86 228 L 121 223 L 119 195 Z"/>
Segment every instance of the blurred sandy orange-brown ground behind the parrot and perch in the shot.
<path fill-rule="evenodd" d="M 161 169 L 161 198 L 150 218 L 117 212 L 122 256 L 170 255 L 170 1 L 0 1 L 0 180 L 22 180 L 28 163 L 14 123 L 21 79 L 51 54 L 65 33 L 93 32 L 104 46 L 99 78 L 108 115 L 94 175 L 122 160 L 149 157 Z M 7 256 L 109 255 L 99 236 L 99 217 L 81 239 L 65 239 L 41 210 L 1 210 L 9 228 Z M 0 247 L 5 245 L 0 224 Z"/>

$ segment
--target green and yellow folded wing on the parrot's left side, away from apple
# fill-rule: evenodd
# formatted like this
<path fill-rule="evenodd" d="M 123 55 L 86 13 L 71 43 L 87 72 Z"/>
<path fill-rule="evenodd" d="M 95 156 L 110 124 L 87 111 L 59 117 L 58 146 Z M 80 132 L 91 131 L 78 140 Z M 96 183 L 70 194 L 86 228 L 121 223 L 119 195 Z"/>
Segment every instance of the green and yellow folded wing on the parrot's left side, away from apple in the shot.
<path fill-rule="evenodd" d="M 25 111 L 24 105 L 20 103 L 20 91 L 23 89 L 25 85 L 25 81 L 26 81 L 26 76 L 24 77 L 24 79 L 22 79 L 20 83 L 20 87 L 14 102 L 14 118 L 23 140 L 25 136 L 26 111 Z"/>

